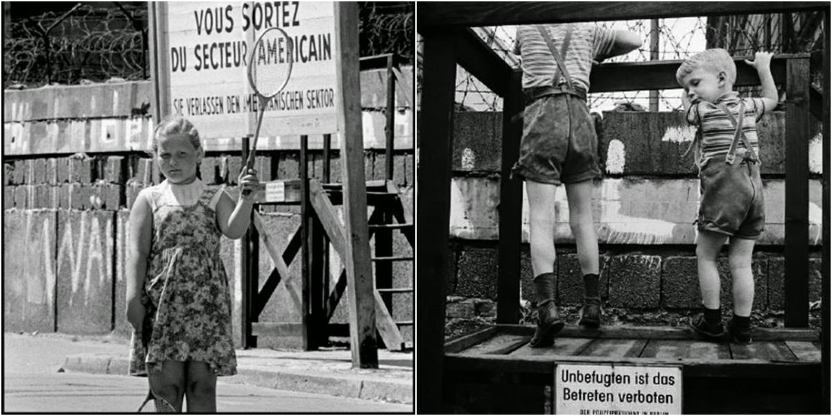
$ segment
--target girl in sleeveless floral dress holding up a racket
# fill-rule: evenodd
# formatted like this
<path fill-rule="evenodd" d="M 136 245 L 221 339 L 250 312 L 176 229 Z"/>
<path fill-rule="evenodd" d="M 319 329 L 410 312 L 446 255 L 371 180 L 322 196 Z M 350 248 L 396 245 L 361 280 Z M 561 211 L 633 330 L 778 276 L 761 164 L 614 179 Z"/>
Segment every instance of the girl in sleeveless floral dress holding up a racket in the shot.
<path fill-rule="evenodd" d="M 215 412 L 217 376 L 236 374 L 220 235 L 245 234 L 256 192 L 242 191 L 259 184 L 256 171 L 244 169 L 237 201 L 209 190 L 196 177 L 204 154 L 190 121 L 162 121 L 153 158 L 166 180 L 142 190 L 130 214 L 130 374 L 147 376 L 153 393 L 180 412 L 185 398 L 189 412 Z"/>

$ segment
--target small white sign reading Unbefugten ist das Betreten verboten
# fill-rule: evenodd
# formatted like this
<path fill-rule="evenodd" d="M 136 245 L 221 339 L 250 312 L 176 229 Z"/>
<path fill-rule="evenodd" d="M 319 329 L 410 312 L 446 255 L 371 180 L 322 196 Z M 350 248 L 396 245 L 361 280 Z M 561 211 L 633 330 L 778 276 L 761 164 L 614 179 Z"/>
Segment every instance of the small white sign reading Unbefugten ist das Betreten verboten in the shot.
<path fill-rule="evenodd" d="M 555 414 L 681 414 L 681 366 L 556 364 Z"/>

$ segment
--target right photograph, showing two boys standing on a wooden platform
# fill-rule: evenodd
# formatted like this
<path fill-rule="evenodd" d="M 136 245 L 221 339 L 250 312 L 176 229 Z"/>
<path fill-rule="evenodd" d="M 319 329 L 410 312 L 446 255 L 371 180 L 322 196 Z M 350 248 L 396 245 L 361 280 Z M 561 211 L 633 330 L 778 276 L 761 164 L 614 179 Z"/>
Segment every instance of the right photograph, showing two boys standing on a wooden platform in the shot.
<path fill-rule="evenodd" d="M 417 2 L 419 414 L 829 414 L 829 2 Z"/>

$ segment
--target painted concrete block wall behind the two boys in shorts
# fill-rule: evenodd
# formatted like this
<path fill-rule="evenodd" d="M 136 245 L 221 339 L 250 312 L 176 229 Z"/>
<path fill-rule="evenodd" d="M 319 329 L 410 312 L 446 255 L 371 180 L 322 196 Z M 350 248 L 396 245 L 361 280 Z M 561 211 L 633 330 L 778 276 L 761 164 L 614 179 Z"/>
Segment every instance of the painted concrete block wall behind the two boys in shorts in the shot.
<path fill-rule="evenodd" d="M 760 121 L 765 234 L 753 262 L 758 312 L 783 310 L 785 235 L 785 115 Z M 498 205 L 503 130 L 501 113 L 454 116 L 451 184 L 452 260 L 448 271 L 448 319 L 493 319 L 498 279 Z M 601 247 L 601 291 L 607 306 L 632 311 L 680 311 L 699 307 L 696 213 L 699 180 L 692 156 L 682 157 L 695 134 L 681 113 L 605 112 L 597 119 L 602 181 L 595 184 L 593 215 Z M 820 300 L 823 220 L 820 123 L 810 137 L 810 301 Z M 583 284 L 569 229 L 566 192 L 558 189 L 555 243 L 557 298 L 580 305 Z M 528 255 L 528 206 L 522 201 L 522 299 L 534 302 Z M 730 273 L 720 260 L 721 304 L 730 309 Z"/>

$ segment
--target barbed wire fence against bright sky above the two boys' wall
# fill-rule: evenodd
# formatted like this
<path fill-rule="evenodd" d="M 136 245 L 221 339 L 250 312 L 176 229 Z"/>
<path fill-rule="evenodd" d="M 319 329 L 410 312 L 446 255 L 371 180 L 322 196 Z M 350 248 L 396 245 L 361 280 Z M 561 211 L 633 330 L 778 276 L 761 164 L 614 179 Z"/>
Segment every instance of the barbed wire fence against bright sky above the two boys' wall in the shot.
<path fill-rule="evenodd" d="M 706 47 L 724 47 L 733 56 L 752 57 L 754 52 L 767 50 L 775 53 L 817 52 L 823 48 L 821 13 L 783 13 L 776 15 L 746 15 L 731 17 L 684 17 L 672 19 L 598 22 L 613 30 L 636 32 L 643 40 L 641 47 L 626 55 L 612 57 L 606 62 L 645 62 L 653 59 L 685 59 Z M 784 31 L 785 27 L 785 31 Z M 479 37 L 511 67 L 518 67 L 513 54 L 515 27 L 475 27 Z M 651 42 L 656 37 L 657 42 Z M 417 38 L 417 93 L 421 92 L 421 37 Z M 652 52 L 652 53 L 651 53 Z M 813 73 L 813 83 L 821 85 L 820 66 Z M 744 88 L 753 92 L 755 88 Z M 657 92 L 658 110 L 674 111 L 681 108 L 681 89 Z M 456 102 L 462 111 L 502 111 L 503 100 L 483 86 L 475 77 L 458 67 Z M 593 111 L 608 111 L 617 107 L 649 109 L 650 92 L 593 93 L 587 98 Z"/>

